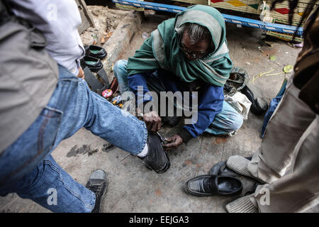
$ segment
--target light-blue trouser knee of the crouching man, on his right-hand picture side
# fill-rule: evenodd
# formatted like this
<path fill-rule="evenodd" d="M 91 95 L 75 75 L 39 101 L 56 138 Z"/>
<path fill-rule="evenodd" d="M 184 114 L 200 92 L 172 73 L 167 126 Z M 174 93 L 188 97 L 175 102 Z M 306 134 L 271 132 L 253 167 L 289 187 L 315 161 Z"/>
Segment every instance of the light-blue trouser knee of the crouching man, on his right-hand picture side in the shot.
<path fill-rule="evenodd" d="M 230 104 L 223 101 L 222 111 L 216 114 L 214 121 L 205 131 L 214 135 L 232 133 L 242 126 L 243 121 L 242 116 Z"/>

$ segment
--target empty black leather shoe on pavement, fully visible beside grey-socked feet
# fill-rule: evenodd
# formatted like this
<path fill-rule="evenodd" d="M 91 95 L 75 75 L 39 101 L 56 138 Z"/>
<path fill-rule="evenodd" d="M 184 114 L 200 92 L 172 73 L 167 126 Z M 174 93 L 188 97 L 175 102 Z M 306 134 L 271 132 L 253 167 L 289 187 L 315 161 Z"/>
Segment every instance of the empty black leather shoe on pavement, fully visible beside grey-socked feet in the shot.
<path fill-rule="evenodd" d="M 242 191 L 242 182 L 230 176 L 201 175 L 189 179 L 185 184 L 185 191 L 193 196 L 233 196 Z"/>

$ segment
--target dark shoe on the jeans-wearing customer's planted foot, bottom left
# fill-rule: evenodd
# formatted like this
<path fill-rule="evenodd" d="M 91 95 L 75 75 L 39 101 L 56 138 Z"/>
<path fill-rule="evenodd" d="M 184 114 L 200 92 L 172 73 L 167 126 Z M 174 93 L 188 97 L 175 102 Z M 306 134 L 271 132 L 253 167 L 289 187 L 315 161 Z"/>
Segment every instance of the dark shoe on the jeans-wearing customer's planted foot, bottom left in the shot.
<path fill-rule="evenodd" d="M 95 170 L 91 174 L 89 181 L 86 183 L 86 188 L 94 192 L 96 196 L 95 206 L 92 213 L 101 213 L 102 200 L 108 189 L 108 178 L 106 176 L 106 172 L 103 170 Z"/>

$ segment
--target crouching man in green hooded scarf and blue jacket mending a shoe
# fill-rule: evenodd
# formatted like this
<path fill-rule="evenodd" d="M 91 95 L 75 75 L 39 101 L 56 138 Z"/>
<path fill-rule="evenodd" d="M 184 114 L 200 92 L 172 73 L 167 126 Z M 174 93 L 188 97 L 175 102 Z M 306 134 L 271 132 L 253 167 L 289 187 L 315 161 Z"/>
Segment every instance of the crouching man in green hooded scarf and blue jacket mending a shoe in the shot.
<path fill-rule="evenodd" d="M 158 108 L 145 111 L 147 103 L 154 101 L 150 90 L 157 94 L 198 95 L 198 106 L 193 106 L 197 121 L 186 123 L 179 133 L 167 138 L 168 143 L 163 144 L 165 150 L 177 148 L 203 132 L 228 134 L 242 126 L 242 116 L 224 101 L 223 86 L 233 69 L 225 37 L 225 21 L 216 9 L 191 6 L 159 24 L 133 57 L 116 62 L 113 70 L 120 92 L 134 92 L 137 103 L 143 104 L 138 107 L 143 109 L 143 120 L 149 131 L 159 131 L 162 121 L 171 126 L 178 123 L 176 115 L 169 117 Z M 159 101 L 162 104 L 163 100 Z"/>

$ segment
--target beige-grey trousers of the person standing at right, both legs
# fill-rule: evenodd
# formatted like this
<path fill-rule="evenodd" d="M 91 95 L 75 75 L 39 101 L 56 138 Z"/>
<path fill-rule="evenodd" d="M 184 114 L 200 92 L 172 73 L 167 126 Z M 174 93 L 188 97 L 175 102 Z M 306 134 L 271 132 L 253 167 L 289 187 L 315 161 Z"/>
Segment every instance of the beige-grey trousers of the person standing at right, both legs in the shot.
<path fill-rule="evenodd" d="M 248 165 L 267 182 L 252 199 L 259 212 L 303 212 L 319 204 L 319 116 L 298 94 L 290 79 Z"/>

